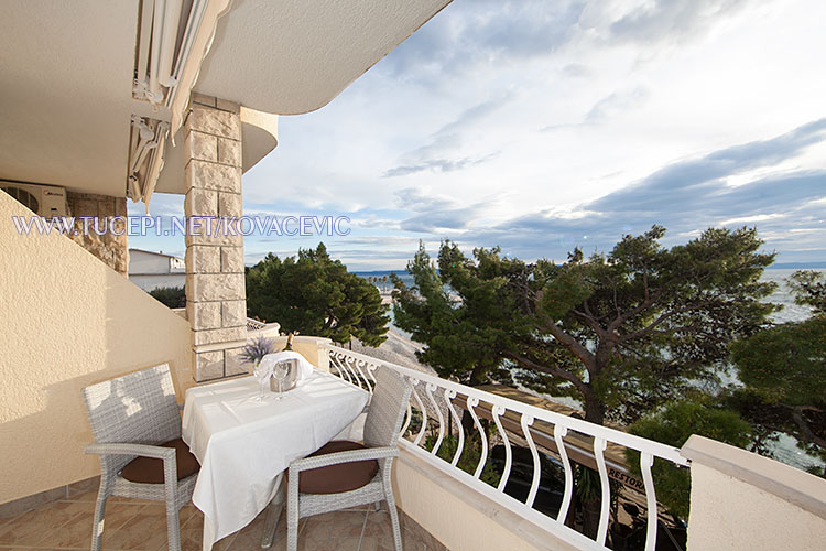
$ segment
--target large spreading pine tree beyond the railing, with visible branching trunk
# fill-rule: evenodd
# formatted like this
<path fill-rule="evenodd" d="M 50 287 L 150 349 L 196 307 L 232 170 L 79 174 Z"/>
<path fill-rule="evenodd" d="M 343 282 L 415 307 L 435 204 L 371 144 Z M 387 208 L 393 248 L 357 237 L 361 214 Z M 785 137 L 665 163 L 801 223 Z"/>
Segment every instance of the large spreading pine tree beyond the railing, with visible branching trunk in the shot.
<path fill-rule="evenodd" d="M 776 306 L 759 281 L 774 255 L 756 229 L 708 229 L 671 249 L 665 229 L 626 236 L 608 253 L 575 250 L 529 264 L 449 241 L 424 247 L 395 277 L 395 323 L 424 343 L 420 358 L 470 383 L 515 378 L 572 396 L 586 420 L 632 422 L 698 385 L 718 382 L 728 344 L 751 336 Z M 510 368 L 518 369 L 510 369 Z"/>

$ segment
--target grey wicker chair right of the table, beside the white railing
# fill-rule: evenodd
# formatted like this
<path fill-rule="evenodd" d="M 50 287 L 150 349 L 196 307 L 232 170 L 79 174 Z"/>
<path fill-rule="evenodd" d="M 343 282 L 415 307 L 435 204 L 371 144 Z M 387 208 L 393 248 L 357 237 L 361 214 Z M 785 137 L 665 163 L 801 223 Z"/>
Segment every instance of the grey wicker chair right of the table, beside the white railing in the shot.
<path fill-rule="evenodd" d="M 399 516 L 395 510 L 390 472 L 393 457 L 399 455 L 399 431 L 407 408 L 411 389 L 402 376 L 389 368 L 377 369 L 376 380 L 376 390 L 365 422 L 365 445 L 361 449 L 325 453 L 325 449 L 330 447 L 330 444 L 333 444 L 333 450 L 347 447 L 336 445 L 347 444 L 346 442 L 330 442 L 314 455 L 290 464 L 286 500 L 287 551 L 297 549 L 298 519 L 347 507 L 378 504 L 381 500 L 388 503 L 395 550 L 402 551 Z M 351 444 L 354 444 L 352 447 L 358 445 Z M 302 475 L 307 475 L 311 471 L 315 469 L 314 475 L 322 475 L 325 469 L 332 474 L 338 466 L 355 462 L 362 462 L 362 465 L 378 463 L 376 475 L 372 479 L 366 480 L 361 487 L 338 494 L 304 493 L 301 488 L 305 485 L 305 476 Z"/>

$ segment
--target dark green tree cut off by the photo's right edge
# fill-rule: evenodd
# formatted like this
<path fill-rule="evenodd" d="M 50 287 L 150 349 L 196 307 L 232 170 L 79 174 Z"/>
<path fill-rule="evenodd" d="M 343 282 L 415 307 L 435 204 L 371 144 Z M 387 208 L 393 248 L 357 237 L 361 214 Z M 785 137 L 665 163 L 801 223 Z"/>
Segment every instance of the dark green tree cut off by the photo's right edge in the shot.
<path fill-rule="evenodd" d="M 787 283 L 812 317 L 784 323 L 731 345 L 745 389 L 730 404 L 764 433 L 785 432 L 826 458 L 826 283 L 795 272 Z"/>

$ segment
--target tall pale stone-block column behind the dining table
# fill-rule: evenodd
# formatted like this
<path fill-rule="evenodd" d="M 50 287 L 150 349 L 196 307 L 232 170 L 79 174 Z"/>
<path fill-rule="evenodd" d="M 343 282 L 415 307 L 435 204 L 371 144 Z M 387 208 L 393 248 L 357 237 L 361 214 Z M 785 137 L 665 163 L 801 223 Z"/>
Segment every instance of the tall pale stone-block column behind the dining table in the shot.
<path fill-rule="evenodd" d="M 186 312 L 193 331 L 195 380 L 240 375 L 247 339 L 243 237 L 206 231 L 209 217 L 240 217 L 241 119 L 238 104 L 193 97 L 185 125 L 187 227 Z M 203 217 L 193 224 L 192 217 Z M 213 226 L 214 227 L 214 226 Z"/>

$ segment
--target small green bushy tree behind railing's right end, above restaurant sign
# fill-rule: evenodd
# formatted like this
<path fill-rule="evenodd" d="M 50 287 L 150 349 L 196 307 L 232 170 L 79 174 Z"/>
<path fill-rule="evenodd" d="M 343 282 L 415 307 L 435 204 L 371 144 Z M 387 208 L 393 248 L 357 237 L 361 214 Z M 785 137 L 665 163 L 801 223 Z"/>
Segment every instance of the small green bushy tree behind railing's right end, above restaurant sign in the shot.
<path fill-rule="evenodd" d="M 645 415 L 629 426 L 632 434 L 682 447 L 692 434 L 745 447 L 750 442 L 751 426 L 736 412 L 722 409 L 708 397 L 672 402 L 655 413 Z M 635 476 L 641 477 L 640 453 L 626 451 L 626 460 Z M 677 468 L 666 461 L 655 461 L 651 468 L 656 488 L 656 500 L 671 512 L 688 518 L 691 476 L 686 468 Z"/>

